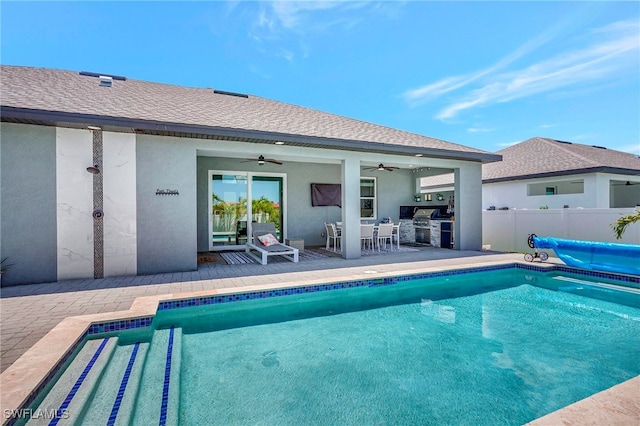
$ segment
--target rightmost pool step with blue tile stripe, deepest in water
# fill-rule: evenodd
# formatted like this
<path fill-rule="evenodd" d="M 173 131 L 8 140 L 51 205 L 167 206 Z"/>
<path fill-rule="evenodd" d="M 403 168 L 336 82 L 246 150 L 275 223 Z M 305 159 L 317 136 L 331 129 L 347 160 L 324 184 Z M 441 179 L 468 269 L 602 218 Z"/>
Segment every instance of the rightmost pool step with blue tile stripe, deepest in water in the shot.
<path fill-rule="evenodd" d="M 181 328 L 154 332 L 130 424 L 178 424 L 181 352 Z"/>

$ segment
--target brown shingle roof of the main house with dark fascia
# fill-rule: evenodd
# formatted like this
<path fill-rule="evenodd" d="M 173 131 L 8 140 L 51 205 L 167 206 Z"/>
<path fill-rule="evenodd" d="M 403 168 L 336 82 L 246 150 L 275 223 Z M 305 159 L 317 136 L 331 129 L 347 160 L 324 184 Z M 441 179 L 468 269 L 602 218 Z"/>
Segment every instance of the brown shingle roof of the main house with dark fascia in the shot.
<path fill-rule="evenodd" d="M 1 67 L 2 121 L 499 161 L 479 149 L 253 95 L 46 68 Z M 339 101 L 339 100 L 337 100 Z"/>

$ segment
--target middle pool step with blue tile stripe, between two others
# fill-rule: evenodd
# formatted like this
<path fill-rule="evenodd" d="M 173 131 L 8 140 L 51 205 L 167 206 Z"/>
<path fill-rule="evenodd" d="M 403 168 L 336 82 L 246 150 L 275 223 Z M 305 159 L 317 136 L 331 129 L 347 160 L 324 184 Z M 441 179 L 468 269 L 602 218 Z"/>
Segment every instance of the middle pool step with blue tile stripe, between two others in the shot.
<path fill-rule="evenodd" d="M 118 346 L 77 424 L 129 425 L 149 343 Z"/>

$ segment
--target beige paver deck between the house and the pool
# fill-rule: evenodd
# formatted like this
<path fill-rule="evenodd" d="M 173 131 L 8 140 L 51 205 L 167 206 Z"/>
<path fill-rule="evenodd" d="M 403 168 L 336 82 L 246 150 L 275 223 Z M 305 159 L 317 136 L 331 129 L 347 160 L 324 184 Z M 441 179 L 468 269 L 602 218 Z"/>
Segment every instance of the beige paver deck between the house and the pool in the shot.
<path fill-rule="evenodd" d="M 189 293 L 282 283 L 344 281 L 363 274 L 468 267 L 522 260 L 521 254 L 422 248 L 346 260 L 326 256 L 268 265 L 202 263 L 197 271 L 103 279 L 65 280 L 4 287 L 0 293 L 2 371 L 63 319 L 128 310 L 143 296 Z M 556 261 L 553 258 L 551 261 Z M 5 384 L 0 383 L 4 387 Z M 4 404 L 2 404 L 4 407 Z M 551 413 L 532 424 L 640 424 L 640 376 Z"/>

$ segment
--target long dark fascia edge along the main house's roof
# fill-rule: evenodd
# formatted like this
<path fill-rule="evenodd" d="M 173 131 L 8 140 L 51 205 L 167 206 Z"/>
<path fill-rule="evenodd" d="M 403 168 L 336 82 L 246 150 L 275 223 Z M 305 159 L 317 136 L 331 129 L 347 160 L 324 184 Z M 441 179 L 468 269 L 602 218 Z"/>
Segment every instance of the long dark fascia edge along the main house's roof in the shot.
<path fill-rule="evenodd" d="M 62 111 L 48 111 L 30 108 L 18 108 L 11 106 L 0 106 L 2 121 L 7 119 L 36 120 L 50 125 L 57 123 L 82 123 L 94 126 L 110 126 L 115 128 L 140 129 L 154 132 L 173 133 L 195 133 L 207 136 L 237 137 L 249 139 L 263 139 L 267 141 L 298 142 L 309 145 L 316 145 L 318 148 L 360 148 L 368 151 L 378 151 L 388 154 L 422 154 L 423 156 L 440 157 L 466 161 L 480 161 L 482 163 L 492 163 L 501 161 L 500 154 L 482 152 L 464 152 L 454 150 L 443 150 L 436 148 L 420 148 L 410 146 L 398 146 L 380 142 L 367 142 L 351 139 L 323 138 L 319 136 L 305 136 L 288 133 L 264 132 L 259 130 L 235 129 L 226 127 L 203 126 L 196 124 L 167 123 L 152 120 L 131 119 L 125 117 L 111 117 L 95 114 L 69 113 Z"/>

